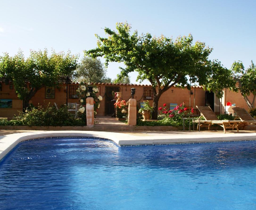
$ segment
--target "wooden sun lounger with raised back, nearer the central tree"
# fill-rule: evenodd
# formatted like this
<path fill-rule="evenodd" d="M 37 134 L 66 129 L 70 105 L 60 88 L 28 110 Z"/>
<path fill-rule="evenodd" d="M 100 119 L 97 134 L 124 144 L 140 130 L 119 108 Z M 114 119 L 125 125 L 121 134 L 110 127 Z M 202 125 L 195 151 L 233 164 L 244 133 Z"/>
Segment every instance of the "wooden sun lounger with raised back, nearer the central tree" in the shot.
<path fill-rule="evenodd" d="M 236 128 L 237 132 L 239 132 L 238 125 L 241 124 L 241 120 L 219 120 L 216 114 L 211 110 L 210 106 L 196 106 L 196 108 L 200 111 L 200 117 L 194 122 L 198 123 L 197 130 L 200 130 L 200 127 L 208 127 L 210 130 L 211 125 L 219 125 L 223 127 L 224 133 L 226 133 L 227 128 Z M 201 117 L 204 117 L 205 120 L 200 120 Z"/>

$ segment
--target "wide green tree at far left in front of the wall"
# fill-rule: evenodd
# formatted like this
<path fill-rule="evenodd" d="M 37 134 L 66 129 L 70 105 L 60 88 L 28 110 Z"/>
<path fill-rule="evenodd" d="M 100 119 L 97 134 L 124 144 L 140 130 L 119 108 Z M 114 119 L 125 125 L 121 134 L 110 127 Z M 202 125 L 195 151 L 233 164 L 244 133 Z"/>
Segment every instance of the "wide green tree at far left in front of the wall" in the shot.
<path fill-rule="evenodd" d="M 29 106 L 29 101 L 43 86 L 58 86 L 61 76 L 69 75 L 77 67 L 77 56 L 68 51 L 48 55 L 44 51 L 30 51 L 30 56 L 25 59 L 22 51 L 14 57 L 5 53 L 0 57 L 0 77 L 12 80 L 15 91 L 24 101 L 24 111 Z M 30 87 L 27 86 L 30 83 Z"/>

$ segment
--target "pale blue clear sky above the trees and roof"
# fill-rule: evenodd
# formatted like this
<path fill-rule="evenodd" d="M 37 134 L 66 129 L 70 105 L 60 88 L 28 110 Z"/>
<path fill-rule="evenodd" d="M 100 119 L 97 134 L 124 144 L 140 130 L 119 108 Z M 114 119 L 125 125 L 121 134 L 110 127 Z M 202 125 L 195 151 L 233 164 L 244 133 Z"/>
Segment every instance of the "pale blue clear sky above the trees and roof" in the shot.
<path fill-rule="evenodd" d="M 255 9 L 256 1 L 246 0 L 0 0 L 0 56 L 21 49 L 27 57 L 30 49 L 47 48 L 70 50 L 82 59 L 84 50 L 97 47 L 95 34 L 106 37 L 105 27 L 115 30 L 117 22 L 128 22 L 139 34 L 174 39 L 192 34 L 194 41 L 213 48 L 210 59 L 228 69 L 242 61 L 247 68 L 256 62 Z M 116 78 L 119 66 L 108 65 L 107 77 Z M 139 83 L 136 73 L 130 77 Z"/>

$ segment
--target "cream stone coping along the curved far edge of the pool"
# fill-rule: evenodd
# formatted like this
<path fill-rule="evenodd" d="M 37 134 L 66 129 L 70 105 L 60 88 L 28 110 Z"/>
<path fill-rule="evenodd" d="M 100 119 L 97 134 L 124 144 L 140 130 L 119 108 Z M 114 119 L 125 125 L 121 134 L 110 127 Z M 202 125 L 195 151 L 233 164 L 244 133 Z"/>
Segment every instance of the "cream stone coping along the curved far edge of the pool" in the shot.
<path fill-rule="evenodd" d="M 36 131 L 14 133 L 0 138 L 0 160 L 6 156 L 16 145 L 22 141 L 37 140 L 52 137 L 74 137 L 74 138 L 103 138 L 115 142 L 118 146 L 139 145 L 174 145 L 188 143 L 217 143 L 229 141 L 253 141 L 256 133 L 242 133 L 240 135 L 224 135 L 217 133 L 213 135 L 166 135 L 165 138 L 150 138 L 151 136 L 136 136 L 128 133 L 95 132 L 95 131 Z"/>

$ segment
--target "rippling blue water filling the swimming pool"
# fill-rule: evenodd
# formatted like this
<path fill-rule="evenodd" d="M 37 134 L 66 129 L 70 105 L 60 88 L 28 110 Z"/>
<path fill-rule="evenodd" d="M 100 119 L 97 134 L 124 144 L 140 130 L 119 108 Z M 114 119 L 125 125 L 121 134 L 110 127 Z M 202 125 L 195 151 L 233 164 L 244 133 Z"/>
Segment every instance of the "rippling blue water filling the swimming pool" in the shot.
<path fill-rule="evenodd" d="M 256 209 L 256 141 L 25 141 L 0 162 L 0 209 Z"/>

